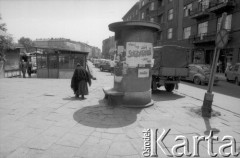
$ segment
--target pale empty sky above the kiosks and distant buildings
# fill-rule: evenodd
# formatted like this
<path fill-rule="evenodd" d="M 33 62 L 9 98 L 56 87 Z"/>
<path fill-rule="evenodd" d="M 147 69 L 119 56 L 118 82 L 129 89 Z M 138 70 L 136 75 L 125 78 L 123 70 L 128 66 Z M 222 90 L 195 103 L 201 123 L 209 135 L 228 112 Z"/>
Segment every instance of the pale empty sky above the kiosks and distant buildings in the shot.
<path fill-rule="evenodd" d="M 0 0 L 1 23 L 17 42 L 21 37 L 67 38 L 102 49 L 114 33 L 108 25 L 138 0 Z"/>

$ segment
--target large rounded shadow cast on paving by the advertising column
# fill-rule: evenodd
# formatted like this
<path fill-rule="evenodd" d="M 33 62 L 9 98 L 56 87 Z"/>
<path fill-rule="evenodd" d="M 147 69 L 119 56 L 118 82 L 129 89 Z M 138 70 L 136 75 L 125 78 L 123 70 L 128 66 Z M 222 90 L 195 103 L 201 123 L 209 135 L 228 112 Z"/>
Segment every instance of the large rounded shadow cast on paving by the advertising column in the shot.
<path fill-rule="evenodd" d="M 73 119 L 89 127 L 118 128 L 134 123 L 141 110 L 108 106 L 105 100 L 100 100 L 98 105 L 86 106 L 74 112 Z"/>

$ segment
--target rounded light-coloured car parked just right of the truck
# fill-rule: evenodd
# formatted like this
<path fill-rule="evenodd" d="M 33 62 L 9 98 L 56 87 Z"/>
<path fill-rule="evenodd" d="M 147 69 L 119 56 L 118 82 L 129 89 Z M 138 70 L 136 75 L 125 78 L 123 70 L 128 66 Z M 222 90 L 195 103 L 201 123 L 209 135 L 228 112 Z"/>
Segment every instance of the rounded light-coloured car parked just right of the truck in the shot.
<path fill-rule="evenodd" d="M 188 76 L 183 78 L 184 80 L 193 81 L 193 83 L 199 85 L 205 85 L 209 82 L 210 66 L 205 64 L 189 64 Z M 214 77 L 214 84 L 219 81 L 218 77 Z"/>

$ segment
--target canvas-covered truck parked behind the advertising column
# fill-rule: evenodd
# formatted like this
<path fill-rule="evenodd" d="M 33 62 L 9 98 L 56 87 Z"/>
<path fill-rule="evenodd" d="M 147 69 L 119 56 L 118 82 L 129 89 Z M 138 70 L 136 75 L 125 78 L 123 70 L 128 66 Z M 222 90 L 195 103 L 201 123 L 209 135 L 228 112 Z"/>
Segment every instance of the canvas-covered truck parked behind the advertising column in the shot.
<path fill-rule="evenodd" d="M 152 90 L 164 86 L 167 92 L 178 88 L 182 77 L 188 76 L 189 51 L 180 46 L 154 47 Z"/>

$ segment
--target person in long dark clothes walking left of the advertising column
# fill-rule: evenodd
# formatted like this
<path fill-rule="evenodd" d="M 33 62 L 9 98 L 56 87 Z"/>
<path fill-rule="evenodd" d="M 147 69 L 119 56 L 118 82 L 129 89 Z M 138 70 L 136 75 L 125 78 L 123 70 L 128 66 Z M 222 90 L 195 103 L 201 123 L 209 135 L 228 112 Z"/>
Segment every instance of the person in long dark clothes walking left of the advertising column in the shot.
<path fill-rule="evenodd" d="M 78 63 L 71 80 L 71 88 L 76 98 L 81 95 L 81 99 L 85 99 L 84 95 L 88 95 L 87 83 L 91 86 L 91 77 L 86 69 Z"/>

